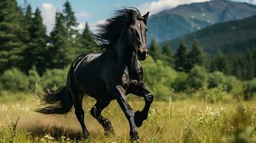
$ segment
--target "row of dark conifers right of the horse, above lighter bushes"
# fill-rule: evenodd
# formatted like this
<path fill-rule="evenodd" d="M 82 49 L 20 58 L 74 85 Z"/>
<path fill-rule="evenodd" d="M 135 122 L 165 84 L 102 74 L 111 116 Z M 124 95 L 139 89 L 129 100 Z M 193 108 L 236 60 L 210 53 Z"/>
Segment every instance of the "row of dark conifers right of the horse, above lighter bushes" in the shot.
<path fill-rule="evenodd" d="M 222 51 L 218 51 L 215 55 L 209 55 L 202 50 L 196 39 L 189 48 L 184 40 L 181 40 L 176 53 L 171 49 L 173 48 L 168 42 L 158 44 L 155 39 L 151 40 L 149 46 L 153 59 L 164 61 L 176 71 L 189 73 L 195 65 L 198 65 L 209 72 L 221 71 L 242 80 L 256 77 L 256 50 L 238 54 L 223 54 Z"/>

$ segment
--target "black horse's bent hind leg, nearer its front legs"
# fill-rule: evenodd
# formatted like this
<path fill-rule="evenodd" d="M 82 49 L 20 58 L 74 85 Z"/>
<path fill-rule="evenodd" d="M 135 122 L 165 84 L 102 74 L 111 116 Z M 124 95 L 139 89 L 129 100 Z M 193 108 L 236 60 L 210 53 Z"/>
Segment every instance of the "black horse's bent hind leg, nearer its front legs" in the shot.
<path fill-rule="evenodd" d="M 109 119 L 103 117 L 101 112 L 105 107 L 108 107 L 110 101 L 100 102 L 97 100 L 96 104 L 90 110 L 90 114 L 97 119 L 97 121 L 103 126 L 106 135 L 115 134 L 112 124 Z"/>

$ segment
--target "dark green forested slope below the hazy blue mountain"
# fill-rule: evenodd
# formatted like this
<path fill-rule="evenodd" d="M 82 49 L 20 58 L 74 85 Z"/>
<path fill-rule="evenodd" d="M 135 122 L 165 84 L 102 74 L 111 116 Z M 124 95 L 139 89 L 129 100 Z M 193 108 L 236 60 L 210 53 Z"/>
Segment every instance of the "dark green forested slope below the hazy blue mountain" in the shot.
<path fill-rule="evenodd" d="M 215 24 L 168 42 L 175 50 L 179 47 L 181 39 L 189 47 L 196 39 L 204 51 L 212 55 L 218 50 L 224 54 L 232 54 L 256 49 L 256 16 Z"/>

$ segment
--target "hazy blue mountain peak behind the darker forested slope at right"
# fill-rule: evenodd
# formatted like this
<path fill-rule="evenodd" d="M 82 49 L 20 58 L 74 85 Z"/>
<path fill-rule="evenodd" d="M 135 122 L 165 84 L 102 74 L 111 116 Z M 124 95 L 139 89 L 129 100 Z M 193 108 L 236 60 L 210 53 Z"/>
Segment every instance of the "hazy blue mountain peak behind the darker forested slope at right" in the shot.
<path fill-rule="evenodd" d="M 148 40 L 175 39 L 212 24 L 244 19 L 256 14 L 256 6 L 227 0 L 184 4 L 148 19 Z"/>

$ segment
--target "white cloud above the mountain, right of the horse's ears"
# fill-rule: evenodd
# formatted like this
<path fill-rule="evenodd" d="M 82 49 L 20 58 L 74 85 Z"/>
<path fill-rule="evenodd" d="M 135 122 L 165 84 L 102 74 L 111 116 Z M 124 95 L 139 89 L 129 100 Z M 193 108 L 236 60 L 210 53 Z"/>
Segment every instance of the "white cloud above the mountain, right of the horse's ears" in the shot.
<path fill-rule="evenodd" d="M 152 14 L 156 14 L 164 9 L 171 9 L 180 4 L 191 4 L 194 2 L 204 2 L 209 0 L 158 0 L 151 3 L 146 3 L 138 6 L 138 9 L 142 11 L 142 14 L 146 14 L 147 11 Z"/>

